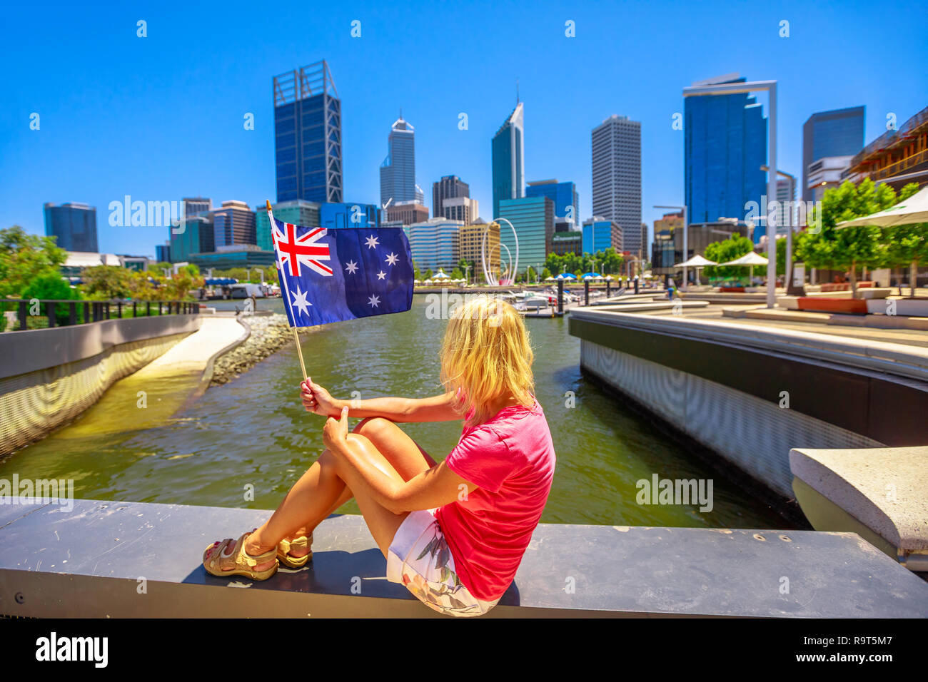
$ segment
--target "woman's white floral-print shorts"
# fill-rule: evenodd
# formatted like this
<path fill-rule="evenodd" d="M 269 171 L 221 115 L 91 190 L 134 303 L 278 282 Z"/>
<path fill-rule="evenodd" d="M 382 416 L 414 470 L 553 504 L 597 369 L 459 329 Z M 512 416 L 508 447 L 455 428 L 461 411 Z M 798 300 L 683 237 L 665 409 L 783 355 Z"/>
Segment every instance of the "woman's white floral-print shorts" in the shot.
<path fill-rule="evenodd" d="M 440 613 L 483 615 L 496 606 L 499 598 L 478 599 L 460 582 L 434 512 L 412 511 L 400 524 L 387 557 L 387 580 L 406 585 L 422 603 Z"/>

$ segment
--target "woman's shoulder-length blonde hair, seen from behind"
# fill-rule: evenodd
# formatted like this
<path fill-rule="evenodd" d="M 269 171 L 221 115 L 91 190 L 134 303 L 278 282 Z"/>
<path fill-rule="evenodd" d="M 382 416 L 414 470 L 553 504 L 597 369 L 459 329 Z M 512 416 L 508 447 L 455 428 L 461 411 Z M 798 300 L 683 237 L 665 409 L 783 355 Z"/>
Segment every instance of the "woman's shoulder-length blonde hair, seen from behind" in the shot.
<path fill-rule="evenodd" d="M 473 426 L 493 417 L 493 405 L 513 396 L 520 405 L 535 402 L 528 330 L 508 302 L 479 296 L 464 303 L 448 321 L 442 343 L 441 380 L 455 393 L 455 407 Z"/>

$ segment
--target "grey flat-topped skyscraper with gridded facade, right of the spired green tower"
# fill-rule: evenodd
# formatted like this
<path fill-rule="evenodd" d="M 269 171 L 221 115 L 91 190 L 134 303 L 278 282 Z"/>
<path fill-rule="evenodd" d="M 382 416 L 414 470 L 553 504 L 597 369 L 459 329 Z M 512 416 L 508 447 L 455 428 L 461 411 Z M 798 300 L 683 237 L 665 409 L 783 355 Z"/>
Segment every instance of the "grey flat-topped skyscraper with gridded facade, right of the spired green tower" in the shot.
<path fill-rule="evenodd" d="M 593 214 L 622 228 L 625 251 L 641 248 L 641 123 L 612 114 L 591 134 Z"/>

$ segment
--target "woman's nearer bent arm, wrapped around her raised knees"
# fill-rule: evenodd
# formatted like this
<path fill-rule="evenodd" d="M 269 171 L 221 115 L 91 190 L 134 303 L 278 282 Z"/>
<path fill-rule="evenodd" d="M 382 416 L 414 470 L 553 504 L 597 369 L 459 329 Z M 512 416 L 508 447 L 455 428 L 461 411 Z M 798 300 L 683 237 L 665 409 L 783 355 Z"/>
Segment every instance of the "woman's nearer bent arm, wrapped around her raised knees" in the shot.
<path fill-rule="evenodd" d="M 354 434 L 348 433 L 347 410 L 342 410 L 341 417 L 340 420 L 326 420 L 322 437 L 326 447 L 342 461 L 342 479 L 352 490 L 364 489 L 378 504 L 394 514 L 465 500 L 477 489 L 476 485 L 448 469 L 444 461 L 406 482 L 397 481 L 371 463 L 361 445 L 354 440 Z"/>

